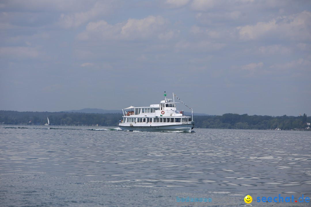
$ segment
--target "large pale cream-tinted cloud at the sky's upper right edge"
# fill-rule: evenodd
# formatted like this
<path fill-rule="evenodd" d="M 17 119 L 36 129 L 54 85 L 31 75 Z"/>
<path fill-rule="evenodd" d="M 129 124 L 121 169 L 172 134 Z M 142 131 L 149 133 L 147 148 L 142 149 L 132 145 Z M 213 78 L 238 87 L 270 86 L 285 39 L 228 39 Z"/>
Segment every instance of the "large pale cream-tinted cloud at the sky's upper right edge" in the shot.
<path fill-rule="evenodd" d="M 311 13 L 303 11 L 289 16 L 281 16 L 256 25 L 237 27 L 240 39 L 253 40 L 265 35 L 289 39 L 311 39 Z"/>

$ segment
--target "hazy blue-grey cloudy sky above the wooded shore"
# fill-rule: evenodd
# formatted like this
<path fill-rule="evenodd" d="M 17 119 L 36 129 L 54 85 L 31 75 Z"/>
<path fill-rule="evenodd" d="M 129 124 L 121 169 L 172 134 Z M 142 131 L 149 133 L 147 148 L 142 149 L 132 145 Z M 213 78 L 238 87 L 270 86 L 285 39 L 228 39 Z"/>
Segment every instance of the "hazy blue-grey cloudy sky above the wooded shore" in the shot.
<path fill-rule="evenodd" d="M 194 113 L 310 116 L 311 1 L 0 2 L 0 110 L 121 110 L 164 91 Z"/>

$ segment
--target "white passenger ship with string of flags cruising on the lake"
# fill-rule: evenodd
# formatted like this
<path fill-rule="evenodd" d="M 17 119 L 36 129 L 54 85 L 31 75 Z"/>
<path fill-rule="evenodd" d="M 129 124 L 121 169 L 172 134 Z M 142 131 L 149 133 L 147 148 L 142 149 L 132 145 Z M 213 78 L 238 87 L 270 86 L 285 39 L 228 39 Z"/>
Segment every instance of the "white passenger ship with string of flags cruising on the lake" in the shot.
<path fill-rule="evenodd" d="M 123 120 L 119 123 L 121 130 L 129 131 L 183 131 L 191 132 L 194 127 L 192 116 L 184 115 L 184 111 L 176 110 L 178 102 L 172 99 L 160 101 L 160 104 L 151 104 L 149 107 L 130 106 L 123 111 Z M 175 95 L 176 96 L 176 95 Z M 191 109 L 192 110 L 192 109 Z"/>

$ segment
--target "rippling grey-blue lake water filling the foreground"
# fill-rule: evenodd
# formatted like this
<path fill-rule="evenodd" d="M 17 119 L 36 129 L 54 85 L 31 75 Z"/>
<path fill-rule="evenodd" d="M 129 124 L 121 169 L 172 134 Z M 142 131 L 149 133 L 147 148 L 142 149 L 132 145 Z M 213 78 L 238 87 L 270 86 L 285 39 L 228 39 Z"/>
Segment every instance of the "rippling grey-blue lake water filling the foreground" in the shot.
<path fill-rule="evenodd" d="M 0 125 L 0 206 L 311 206 L 310 131 L 194 131 Z"/>

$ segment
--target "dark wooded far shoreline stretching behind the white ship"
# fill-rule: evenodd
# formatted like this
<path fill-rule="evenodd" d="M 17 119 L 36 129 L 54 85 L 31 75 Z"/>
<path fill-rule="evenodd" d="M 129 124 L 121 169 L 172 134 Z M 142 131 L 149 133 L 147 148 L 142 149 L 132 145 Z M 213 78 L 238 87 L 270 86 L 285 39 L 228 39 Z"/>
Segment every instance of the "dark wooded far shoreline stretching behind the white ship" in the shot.
<path fill-rule="evenodd" d="M 67 112 L 18 112 L 0 110 L 1 124 L 39 124 L 50 125 L 99 125 L 117 126 L 122 114 L 88 114 Z M 310 127 L 311 117 L 303 116 L 259 116 L 247 114 L 223 114 L 212 116 L 193 116 L 195 128 L 223 129 L 306 129 Z"/>

